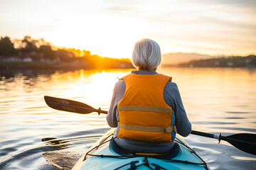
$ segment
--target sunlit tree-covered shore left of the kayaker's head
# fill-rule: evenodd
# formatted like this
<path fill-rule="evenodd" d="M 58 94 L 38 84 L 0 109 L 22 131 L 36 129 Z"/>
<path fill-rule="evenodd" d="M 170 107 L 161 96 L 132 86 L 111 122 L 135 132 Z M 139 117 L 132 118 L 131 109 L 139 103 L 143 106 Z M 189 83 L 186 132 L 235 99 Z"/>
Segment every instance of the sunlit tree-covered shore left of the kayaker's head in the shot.
<path fill-rule="evenodd" d="M 112 59 L 91 55 L 88 50 L 58 48 L 41 39 L 26 35 L 22 40 L 0 39 L 0 62 L 15 67 L 74 67 L 87 69 L 131 68 L 129 59 Z M 30 64 L 28 64 L 28 62 Z M 18 63 L 18 64 L 17 64 Z"/>

